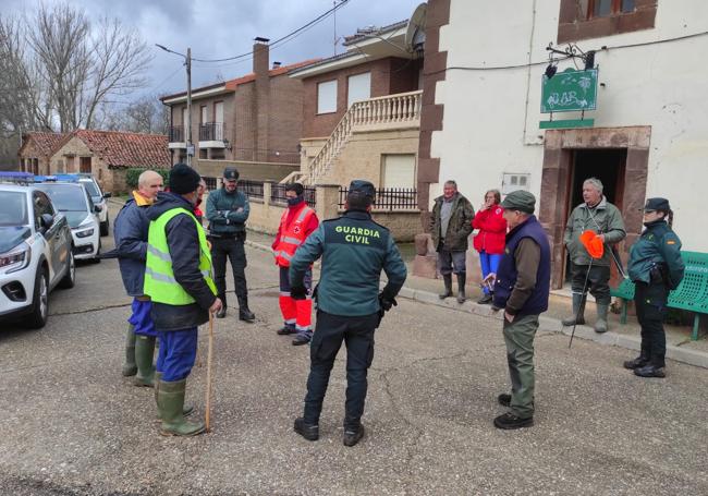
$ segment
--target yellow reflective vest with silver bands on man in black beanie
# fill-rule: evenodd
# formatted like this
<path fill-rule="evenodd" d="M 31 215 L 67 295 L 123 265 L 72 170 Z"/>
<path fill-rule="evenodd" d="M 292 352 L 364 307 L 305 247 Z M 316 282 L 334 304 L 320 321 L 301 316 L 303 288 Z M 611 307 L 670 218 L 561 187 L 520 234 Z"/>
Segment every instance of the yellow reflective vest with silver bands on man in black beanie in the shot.
<path fill-rule="evenodd" d="M 150 222 L 147 235 L 147 261 L 143 290 L 152 302 L 168 305 L 188 305 L 195 302 L 194 298 L 174 278 L 172 257 L 167 242 L 167 223 L 180 214 L 186 214 L 194 219 L 199 235 L 199 270 L 202 270 L 204 280 L 211 292 L 217 294 L 217 288 L 211 277 L 211 253 L 204 228 L 194 214 L 187 209 L 172 208 Z"/>

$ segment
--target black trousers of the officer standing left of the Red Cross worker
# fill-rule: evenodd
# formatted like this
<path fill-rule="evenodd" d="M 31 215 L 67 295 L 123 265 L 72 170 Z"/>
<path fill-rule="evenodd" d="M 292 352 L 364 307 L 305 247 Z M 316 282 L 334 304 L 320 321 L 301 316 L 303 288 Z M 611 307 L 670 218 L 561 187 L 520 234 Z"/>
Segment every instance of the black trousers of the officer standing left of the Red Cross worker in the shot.
<path fill-rule="evenodd" d="M 223 302 L 223 306 L 227 306 L 227 258 L 231 262 L 239 306 L 247 306 L 246 252 L 243 246 L 246 241 L 246 233 L 244 232 L 236 238 L 209 237 L 209 241 L 211 242 L 213 282 L 217 286 L 218 297 Z"/>

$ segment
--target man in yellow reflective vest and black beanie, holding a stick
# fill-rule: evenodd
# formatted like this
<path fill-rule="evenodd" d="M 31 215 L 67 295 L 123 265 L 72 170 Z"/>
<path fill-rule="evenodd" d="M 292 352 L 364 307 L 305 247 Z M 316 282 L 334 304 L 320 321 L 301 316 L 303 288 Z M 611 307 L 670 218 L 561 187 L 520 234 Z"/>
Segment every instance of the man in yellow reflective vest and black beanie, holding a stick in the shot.
<path fill-rule="evenodd" d="M 197 353 L 197 326 L 221 309 L 211 275 L 211 255 L 202 225 L 194 216 L 199 174 L 183 164 L 170 170 L 170 192 L 159 193 L 148 208 L 150 220 L 144 292 L 152 301 L 160 338 L 156 398 L 160 434 L 194 436 L 202 422 L 184 419 L 186 378 Z M 190 409 L 186 409 L 187 411 Z"/>

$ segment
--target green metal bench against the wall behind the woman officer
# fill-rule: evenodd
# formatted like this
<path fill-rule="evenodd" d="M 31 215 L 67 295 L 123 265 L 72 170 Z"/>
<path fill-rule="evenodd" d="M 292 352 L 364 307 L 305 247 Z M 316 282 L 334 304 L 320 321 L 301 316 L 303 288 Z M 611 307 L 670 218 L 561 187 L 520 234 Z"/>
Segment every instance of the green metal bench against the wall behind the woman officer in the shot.
<path fill-rule="evenodd" d="M 708 253 L 681 252 L 686 273 L 681 285 L 669 293 L 670 309 L 694 312 L 692 340 L 698 339 L 700 314 L 708 314 Z M 620 322 L 627 322 L 627 302 L 634 300 L 634 282 L 624 279 L 610 294 L 622 300 Z"/>

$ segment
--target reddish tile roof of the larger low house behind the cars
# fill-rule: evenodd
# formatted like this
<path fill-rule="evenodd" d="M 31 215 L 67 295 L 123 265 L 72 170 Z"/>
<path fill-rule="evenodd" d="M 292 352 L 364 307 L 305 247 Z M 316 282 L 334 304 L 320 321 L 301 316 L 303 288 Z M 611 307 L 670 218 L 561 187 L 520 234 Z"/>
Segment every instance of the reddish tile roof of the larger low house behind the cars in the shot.
<path fill-rule="evenodd" d="M 168 137 L 163 134 L 124 133 L 119 131 L 76 130 L 77 137 L 111 169 L 129 167 L 170 168 Z"/>

